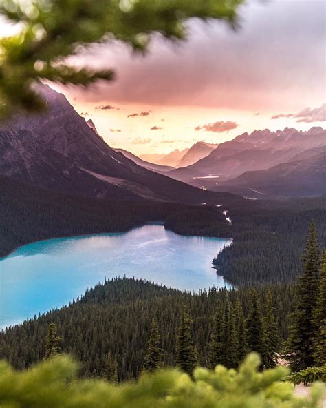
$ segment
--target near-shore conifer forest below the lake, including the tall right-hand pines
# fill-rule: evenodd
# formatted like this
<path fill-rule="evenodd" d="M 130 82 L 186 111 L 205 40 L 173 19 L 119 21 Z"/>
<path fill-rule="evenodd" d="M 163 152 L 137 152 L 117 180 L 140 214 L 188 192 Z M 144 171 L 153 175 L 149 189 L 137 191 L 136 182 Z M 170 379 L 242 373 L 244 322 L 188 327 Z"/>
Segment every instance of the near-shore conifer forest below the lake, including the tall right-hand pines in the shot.
<path fill-rule="evenodd" d="M 0 358 L 21 369 L 63 351 L 83 363 L 80 376 L 116 383 L 162 367 L 190 375 L 198 366 L 237 368 L 254 351 L 261 368 L 275 367 L 281 354 L 296 377 L 323 379 L 326 252 L 314 222 L 301 260 L 296 285 L 191 293 L 130 278 L 105 281 L 0 332 Z"/>

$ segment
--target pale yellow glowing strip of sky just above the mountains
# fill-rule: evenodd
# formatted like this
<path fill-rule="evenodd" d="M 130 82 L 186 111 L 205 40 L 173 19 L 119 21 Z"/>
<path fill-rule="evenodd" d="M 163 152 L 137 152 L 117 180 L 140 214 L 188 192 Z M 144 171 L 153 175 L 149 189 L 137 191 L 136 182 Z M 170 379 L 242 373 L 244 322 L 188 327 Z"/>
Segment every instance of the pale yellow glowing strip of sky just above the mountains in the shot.
<path fill-rule="evenodd" d="M 50 84 L 52 88 L 63 92 L 61 87 Z M 66 91 L 66 90 L 65 90 Z M 276 112 L 248 112 L 242 110 L 219 110 L 203 107 L 171 107 L 149 105 L 117 105 L 116 109 L 96 109 L 99 105 L 109 105 L 107 101 L 89 103 L 66 94 L 74 109 L 85 118 L 91 119 L 96 125 L 100 136 L 113 148 L 122 148 L 140 154 L 166 154 L 175 149 L 183 150 L 197 141 L 206 143 L 223 143 L 234 139 L 244 132 L 270 129 L 283 130 L 285 127 L 297 130 L 309 130 L 313 126 L 325 128 L 325 122 L 297 123 L 295 118 L 271 119 Z M 112 103 L 113 105 L 113 103 Z M 148 116 L 127 117 L 134 112 L 150 111 Z M 162 121 L 164 119 L 164 121 Z M 237 128 L 228 132 L 195 131 L 198 125 L 218 120 L 234 121 Z M 151 130 L 157 126 L 162 129 Z M 118 131 L 120 130 L 120 132 Z M 151 139 L 149 141 L 149 139 Z"/>

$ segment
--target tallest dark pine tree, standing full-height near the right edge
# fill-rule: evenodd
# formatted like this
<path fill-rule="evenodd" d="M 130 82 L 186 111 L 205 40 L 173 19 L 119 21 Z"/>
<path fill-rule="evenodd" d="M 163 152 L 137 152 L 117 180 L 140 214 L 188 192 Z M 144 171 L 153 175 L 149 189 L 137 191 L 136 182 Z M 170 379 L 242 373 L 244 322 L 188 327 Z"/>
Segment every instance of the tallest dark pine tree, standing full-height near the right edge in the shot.
<path fill-rule="evenodd" d="M 286 357 L 290 360 L 290 366 L 294 371 L 314 365 L 314 339 L 316 338 L 314 309 L 318 296 L 320 250 L 313 221 L 302 260 L 303 273 L 298 277 L 296 307 L 286 350 Z"/>

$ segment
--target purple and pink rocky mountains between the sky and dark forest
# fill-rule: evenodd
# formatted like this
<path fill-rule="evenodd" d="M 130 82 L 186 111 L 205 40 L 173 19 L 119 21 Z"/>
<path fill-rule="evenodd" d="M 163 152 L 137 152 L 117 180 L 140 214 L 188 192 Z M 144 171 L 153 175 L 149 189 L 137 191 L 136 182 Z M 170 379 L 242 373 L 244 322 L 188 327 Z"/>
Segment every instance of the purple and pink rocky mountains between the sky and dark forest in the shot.
<path fill-rule="evenodd" d="M 247 198 L 326 194 L 323 128 L 256 130 L 217 147 L 198 142 L 157 164 L 113 150 L 63 94 L 45 85 L 41 92 L 47 112 L 17 115 L 0 126 L 0 174 L 56 192 L 122 200 L 199 204 L 230 198 L 216 192 Z"/>

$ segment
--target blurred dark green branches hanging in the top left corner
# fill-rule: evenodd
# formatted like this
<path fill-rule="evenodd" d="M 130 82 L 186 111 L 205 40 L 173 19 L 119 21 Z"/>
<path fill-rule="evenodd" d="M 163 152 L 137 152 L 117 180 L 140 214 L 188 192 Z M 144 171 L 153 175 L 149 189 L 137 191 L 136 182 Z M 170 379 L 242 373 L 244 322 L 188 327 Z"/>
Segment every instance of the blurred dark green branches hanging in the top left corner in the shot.
<path fill-rule="evenodd" d="M 186 21 L 221 19 L 235 26 L 243 0 L 2 0 L 0 16 L 17 24 L 17 34 L 0 39 L 0 116 L 40 110 L 32 85 L 39 79 L 89 85 L 111 80 L 110 69 L 67 62 L 81 48 L 113 39 L 146 50 L 153 33 L 186 37 Z"/>

